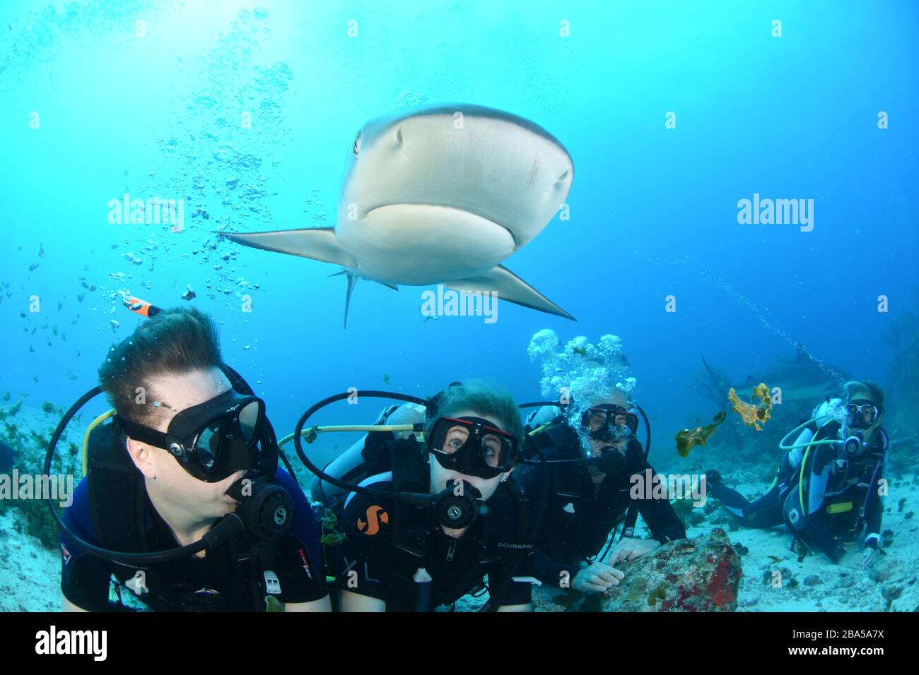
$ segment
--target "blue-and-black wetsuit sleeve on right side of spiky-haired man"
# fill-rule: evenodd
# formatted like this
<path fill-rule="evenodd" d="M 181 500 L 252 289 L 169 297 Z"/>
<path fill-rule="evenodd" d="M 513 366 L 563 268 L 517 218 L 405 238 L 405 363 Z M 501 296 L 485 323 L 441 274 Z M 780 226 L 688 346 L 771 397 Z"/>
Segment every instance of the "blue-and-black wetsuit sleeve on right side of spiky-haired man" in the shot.
<path fill-rule="evenodd" d="M 275 573 L 280 581 L 280 602 L 312 602 L 328 594 L 325 588 L 319 525 L 310 502 L 293 478 L 282 468 L 275 477 L 293 501 L 293 522 L 276 545 Z"/>

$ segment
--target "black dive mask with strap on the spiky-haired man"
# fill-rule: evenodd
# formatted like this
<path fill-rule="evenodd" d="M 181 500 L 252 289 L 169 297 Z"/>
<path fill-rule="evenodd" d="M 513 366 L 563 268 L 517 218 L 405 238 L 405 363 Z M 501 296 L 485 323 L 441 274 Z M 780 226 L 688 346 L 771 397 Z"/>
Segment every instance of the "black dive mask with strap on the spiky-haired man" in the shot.
<path fill-rule="evenodd" d="M 122 417 L 119 424 L 130 438 L 168 450 L 192 477 L 206 483 L 251 469 L 274 478 L 278 466 L 277 448 L 260 443 L 267 431 L 265 401 L 234 389 L 176 413 L 166 433 Z M 274 456 L 268 456 L 272 451 Z"/>

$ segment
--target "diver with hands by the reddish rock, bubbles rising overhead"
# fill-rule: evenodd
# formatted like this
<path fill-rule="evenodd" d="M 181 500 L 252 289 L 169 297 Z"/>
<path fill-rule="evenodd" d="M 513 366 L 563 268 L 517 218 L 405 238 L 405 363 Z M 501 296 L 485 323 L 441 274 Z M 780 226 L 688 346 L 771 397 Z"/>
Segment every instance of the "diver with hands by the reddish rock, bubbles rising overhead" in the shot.
<path fill-rule="evenodd" d="M 655 474 L 647 462 L 646 449 L 636 438 L 638 415 L 621 403 L 625 401 L 603 401 L 583 412 L 580 424 L 586 448 L 582 436 L 558 408 L 546 406 L 528 420 L 525 455 L 529 459 L 541 453 L 550 462 L 546 467 L 528 466 L 520 478 L 530 503 L 545 504 L 530 571 L 550 586 L 607 591 L 624 576 L 614 567 L 618 561 L 632 560 L 668 541 L 686 537 L 670 501 L 630 499 L 630 478 L 635 474 L 643 477 L 649 469 L 652 476 Z M 575 461 L 583 460 L 584 455 L 586 461 Z M 652 538 L 631 536 L 637 513 Z M 612 540 L 607 551 L 597 556 L 610 532 L 622 522 L 623 537 L 608 557 Z"/>

